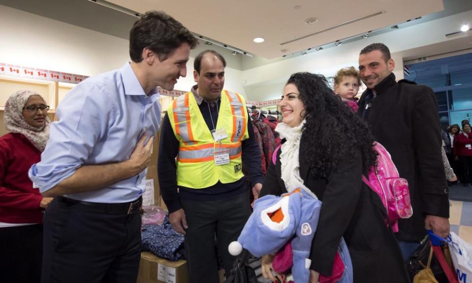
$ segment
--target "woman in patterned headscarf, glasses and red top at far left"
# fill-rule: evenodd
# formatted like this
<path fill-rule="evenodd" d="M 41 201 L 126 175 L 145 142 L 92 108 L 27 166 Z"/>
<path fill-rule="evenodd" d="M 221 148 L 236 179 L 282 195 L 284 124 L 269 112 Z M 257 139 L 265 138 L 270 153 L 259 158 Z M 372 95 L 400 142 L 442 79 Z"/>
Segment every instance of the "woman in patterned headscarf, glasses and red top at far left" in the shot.
<path fill-rule="evenodd" d="M 41 159 L 49 138 L 49 106 L 36 92 L 21 90 L 8 98 L 3 113 L 6 129 L 0 137 L 0 266 L 2 282 L 39 282 L 43 198 L 28 178 Z"/>

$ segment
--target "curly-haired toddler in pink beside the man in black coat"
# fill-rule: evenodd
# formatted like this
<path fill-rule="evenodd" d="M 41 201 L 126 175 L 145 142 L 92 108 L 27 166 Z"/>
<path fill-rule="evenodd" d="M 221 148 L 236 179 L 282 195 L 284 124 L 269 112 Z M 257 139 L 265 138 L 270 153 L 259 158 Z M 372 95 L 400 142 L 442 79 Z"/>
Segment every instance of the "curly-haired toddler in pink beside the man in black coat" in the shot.
<path fill-rule="evenodd" d="M 359 108 L 354 100 L 359 86 L 359 72 L 354 67 L 341 69 L 334 75 L 334 93 L 338 94 L 354 112 Z"/>

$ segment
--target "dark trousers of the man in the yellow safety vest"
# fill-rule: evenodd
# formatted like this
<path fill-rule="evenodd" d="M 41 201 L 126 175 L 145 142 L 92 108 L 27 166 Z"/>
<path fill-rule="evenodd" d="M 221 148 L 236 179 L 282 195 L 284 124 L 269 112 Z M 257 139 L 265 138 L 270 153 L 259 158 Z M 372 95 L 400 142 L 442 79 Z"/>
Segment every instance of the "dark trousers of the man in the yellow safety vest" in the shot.
<path fill-rule="evenodd" d="M 185 253 L 190 283 L 218 283 L 218 253 L 229 274 L 236 257 L 228 252 L 228 245 L 236 241 L 251 214 L 249 191 L 233 198 L 214 201 L 180 199 L 188 229 Z"/>

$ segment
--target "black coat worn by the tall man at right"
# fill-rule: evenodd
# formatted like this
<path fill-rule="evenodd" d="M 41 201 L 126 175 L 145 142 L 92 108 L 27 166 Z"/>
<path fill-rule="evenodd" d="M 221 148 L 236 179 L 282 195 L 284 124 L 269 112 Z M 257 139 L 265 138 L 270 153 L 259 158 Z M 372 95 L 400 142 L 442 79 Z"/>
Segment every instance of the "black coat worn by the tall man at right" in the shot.
<path fill-rule="evenodd" d="M 420 241 L 426 214 L 449 218 L 448 189 L 441 154 L 438 103 L 431 88 L 407 80 L 395 82 L 391 73 L 375 86 L 377 97 L 365 117 L 372 134 L 392 156 L 400 177 L 408 180 L 413 216 L 399 221 L 397 238 Z M 358 114 L 366 107 L 367 89 Z"/>

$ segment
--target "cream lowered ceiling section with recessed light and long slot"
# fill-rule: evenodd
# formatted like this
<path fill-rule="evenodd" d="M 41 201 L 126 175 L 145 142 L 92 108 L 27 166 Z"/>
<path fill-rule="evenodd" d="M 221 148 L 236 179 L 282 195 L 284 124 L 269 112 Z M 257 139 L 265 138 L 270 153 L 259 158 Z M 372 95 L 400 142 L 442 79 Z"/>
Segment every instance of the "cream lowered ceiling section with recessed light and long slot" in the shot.
<path fill-rule="evenodd" d="M 140 13 L 164 10 L 192 32 L 267 59 L 443 10 L 442 0 L 109 1 Z M 384 13 L 281 45 L 380 11 Z M 317 18 L 318 22 L 313 25 L 306 24 L 305 20 L 312 17 Z M 263 37 L 266 41 L 254 43 L 255 37 Z M 282 51 L 284 49 L 286 51 Z"/>

